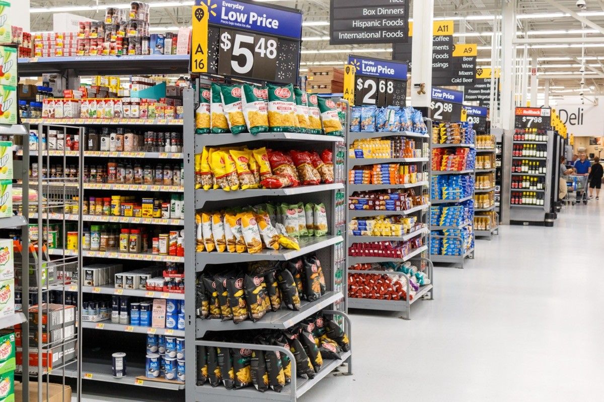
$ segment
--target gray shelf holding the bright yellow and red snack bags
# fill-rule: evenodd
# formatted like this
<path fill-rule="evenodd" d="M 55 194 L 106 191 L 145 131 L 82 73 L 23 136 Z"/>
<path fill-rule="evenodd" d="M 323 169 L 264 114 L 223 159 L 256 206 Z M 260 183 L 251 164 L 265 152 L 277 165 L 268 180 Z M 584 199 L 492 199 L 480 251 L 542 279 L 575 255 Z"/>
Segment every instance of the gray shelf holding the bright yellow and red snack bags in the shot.
<path fill-rule="evenodd" d="M 226 199 L 243 199 L 262 196 L 286 196 L 321 191 L 332 191 L 344 189 L 343 183 L 318 184 L 316 186 L 286 187 L 284 189 L 250 189 L 237 191 L 223 190 L 195 190 L 195 209 L 201 209 L 208 201 L 225 201 Z"/>

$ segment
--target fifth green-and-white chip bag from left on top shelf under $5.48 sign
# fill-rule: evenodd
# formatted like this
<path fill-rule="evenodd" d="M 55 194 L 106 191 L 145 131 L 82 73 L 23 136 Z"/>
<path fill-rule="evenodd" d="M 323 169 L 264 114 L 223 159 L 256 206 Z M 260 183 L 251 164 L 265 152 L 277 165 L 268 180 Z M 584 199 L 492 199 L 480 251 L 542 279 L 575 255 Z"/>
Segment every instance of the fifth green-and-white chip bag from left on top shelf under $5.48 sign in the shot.
<path fill-rule="evenodd" d="M 286 86 L 268 84 L 268 124 L 269 130 L 273 133 L 297 131 L 296 103 L 292 84 Z"/>

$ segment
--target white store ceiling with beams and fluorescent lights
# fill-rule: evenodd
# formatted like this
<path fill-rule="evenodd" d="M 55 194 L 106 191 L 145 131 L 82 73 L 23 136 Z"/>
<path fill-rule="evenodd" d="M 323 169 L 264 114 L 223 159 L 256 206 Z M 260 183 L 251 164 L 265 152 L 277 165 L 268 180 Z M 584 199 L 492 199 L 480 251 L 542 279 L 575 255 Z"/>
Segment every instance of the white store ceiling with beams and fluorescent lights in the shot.
<path fill-rule="evenodd" d="M 302 68 L 312 64 L 341 64 L 349 52 L 362 53 L 373 57 L 389 58 L 391 44 L 329 46 L 329 0 L 263 0 L 271 4 L 295 7 L 303 10 L 303 55 Z M 420 1 L 420 0 L 415 0 Z M 190 5 L 193 1 L 155 2 L 157 7 L 151 11 L 152 29 L 161 32 L 162 27 L 174 30 L 175 27 L 190 25 Z M 370 2 L 370 0 L 368 0 Z M 490 65 L 490 45 L 493 16 L 501 14 L 501 0 L 434 0 L 435 17 L 455 19 L 455 32 L 460 42 L 478 43 L 479 66 Z M 555 0 L 555 4 L 579 11 L 576 0 Z M 112 4 L 126 4 L 124 0 L 31 0 L 31 30 L 50 31 L 53 25 L 53 12 L 68 11 L 92 19 L 102 20 L 104 8 Z M 591 22 L 604 27 L 604 0 L 586 0 L 587 10 L 583 14 Z M 181 4 L 181 5 L 179 5 Z M 604 34 L 564 13 L 551 4 L 551 0 L 518 0 L 518 37 L 561 41 L 564 38 L 588 40 L 585 47 L 586 73 L 585 93 L 595 95 L 604 93 Z M 98 6 L 98 11 L 97 11 Z M 88 8 L 86 10 L 86 8 Z M 413 7 L 411 7 L 413 8 Z M 36 11 L 37 9 L 37 11 Z M 52 10 L 52 12 L 48 10 Z M 40 12 L 42 11 L 42 12 Z M 412 14 L 413 17 L 413 14 Z M 598 39 L 601 38 L 600 42 Z M 569 94 L 578 92 L 581 81 L 580 57 L 582 43 L 572 45 L 562 43 L 541 43 L 530 45 L 528 54 L 538 57 L 538 74 L 541 78 L 551 77 L 550 85 L 554 92 Z M 522 54 L 522 51 L 519 51 Z M 590 89 L 592 87 L 593 89 Z M 561 92 L 565 91 L 565 92 Z M 541 90 L 539 92 L 542 92 Z"/>

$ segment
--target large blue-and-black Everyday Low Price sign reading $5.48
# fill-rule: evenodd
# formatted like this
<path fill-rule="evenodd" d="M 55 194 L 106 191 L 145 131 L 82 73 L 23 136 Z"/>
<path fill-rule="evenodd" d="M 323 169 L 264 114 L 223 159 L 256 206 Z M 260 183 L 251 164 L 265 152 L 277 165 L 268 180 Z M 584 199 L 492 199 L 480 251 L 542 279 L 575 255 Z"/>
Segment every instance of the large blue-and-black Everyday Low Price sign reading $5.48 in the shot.
<path fill-rule="evenodd" d="M 296 83 L 302 14 L 294 8 L 235 0 L 196 0 L 208 7 L 208 74 Z M 193 25 L 193 38 L 195 37 Z"/>

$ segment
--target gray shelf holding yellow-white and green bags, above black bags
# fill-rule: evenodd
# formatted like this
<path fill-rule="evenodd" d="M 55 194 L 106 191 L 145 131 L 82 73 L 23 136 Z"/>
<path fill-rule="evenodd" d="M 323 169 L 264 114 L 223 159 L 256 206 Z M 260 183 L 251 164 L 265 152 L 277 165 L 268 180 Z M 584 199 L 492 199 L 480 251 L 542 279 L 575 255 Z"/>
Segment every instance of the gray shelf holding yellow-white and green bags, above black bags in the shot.
<path fill-rule="evenodd" d="M 197 272 L 201 272 L 205 268 L 205 265 L 208 264 L 230 264 L 237 262 L 266 260 L 288 261 L 343 241 L 344 238 L 342 236 L 303 237 L 298 239 L 298 243 L 300 243 L 300 250 L 290 250 L 288 248 L 281 248 L 280 250 L 268 250 L 263 248 L 260 253 L 256 254 L 208 253 L 207 251 L 204 251 L 202 253 L 196 253 L 196 270 Z"/>

